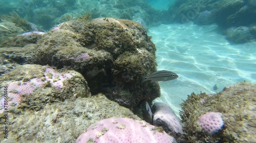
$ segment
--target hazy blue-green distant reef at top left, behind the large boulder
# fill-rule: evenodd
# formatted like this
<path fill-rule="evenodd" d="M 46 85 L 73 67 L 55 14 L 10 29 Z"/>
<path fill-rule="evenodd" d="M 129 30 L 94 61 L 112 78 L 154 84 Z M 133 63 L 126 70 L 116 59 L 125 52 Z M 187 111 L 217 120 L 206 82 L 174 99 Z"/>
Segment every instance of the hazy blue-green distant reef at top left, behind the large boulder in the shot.
<path fill-rule="evenodd" d="M 159 16 L 163 15 L 145 1 L 3 1 L 1 5 L 1 13 L 16 11 L 21 17 L 44 27 L 45 30 L 66 19 L 61 16 L 73 15 L 73 18 L 77 18 L 86 12 L 91 13 L 92 18 L 116 17 L 135 21 L 138 17 L 134 16 L 139 13 L 139 19 L 146 21 L 145 24 L 149 24 L 149 21 L 157 22 Z"/>

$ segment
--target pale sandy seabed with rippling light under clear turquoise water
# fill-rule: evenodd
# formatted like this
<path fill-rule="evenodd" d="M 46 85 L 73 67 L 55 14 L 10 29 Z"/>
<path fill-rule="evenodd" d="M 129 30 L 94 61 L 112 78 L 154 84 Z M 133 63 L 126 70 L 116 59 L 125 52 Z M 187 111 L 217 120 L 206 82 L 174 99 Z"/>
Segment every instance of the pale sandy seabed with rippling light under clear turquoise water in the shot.
<path fill-rule="evenodd" d="M 177 115 L 182 99 L 192 92 L 218 93 L 244 80 L 256 83 L 256 42 L 231 45 L 217 30 L 217 25 L 191 22 L 148 30 L 157 47 L 158 70 L 179 75 L 176 80 L 159 82 L 161 97 L 156 101 L 169 104 Z"/>

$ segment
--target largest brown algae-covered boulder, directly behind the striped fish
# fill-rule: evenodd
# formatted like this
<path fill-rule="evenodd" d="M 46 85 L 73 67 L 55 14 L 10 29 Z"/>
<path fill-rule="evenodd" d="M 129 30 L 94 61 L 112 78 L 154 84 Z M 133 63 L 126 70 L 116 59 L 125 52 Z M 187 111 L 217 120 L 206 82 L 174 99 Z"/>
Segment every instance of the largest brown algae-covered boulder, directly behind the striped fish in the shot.
<path fill-rule="evenodd" d="M 145 29 L 126 19 L 97 18 L 63 22 L 38 43 L 34 63 L 81 73 L 92 94 L 102 92 L 133 109 L 159 97 L 158 83 L 141 84 L 140 75 L 156 70 L 155 45 Z"/>

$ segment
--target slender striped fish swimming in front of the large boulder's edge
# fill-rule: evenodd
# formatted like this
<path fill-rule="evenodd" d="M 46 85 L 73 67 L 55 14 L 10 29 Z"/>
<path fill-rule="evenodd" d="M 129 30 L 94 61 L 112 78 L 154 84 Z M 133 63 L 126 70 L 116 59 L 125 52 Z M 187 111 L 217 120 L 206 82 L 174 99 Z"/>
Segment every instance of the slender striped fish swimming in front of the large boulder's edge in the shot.
<path fill-rule="evenodd" d="M 151 80 L 151 83 L 156 81 L 168 81 L 178 78 L 179 76 L 172 72 L 172 71 L 157 71 L 150 74 L 150 76 L 141 76 L 141 83 L 145 82 L 146 80 Z"/>

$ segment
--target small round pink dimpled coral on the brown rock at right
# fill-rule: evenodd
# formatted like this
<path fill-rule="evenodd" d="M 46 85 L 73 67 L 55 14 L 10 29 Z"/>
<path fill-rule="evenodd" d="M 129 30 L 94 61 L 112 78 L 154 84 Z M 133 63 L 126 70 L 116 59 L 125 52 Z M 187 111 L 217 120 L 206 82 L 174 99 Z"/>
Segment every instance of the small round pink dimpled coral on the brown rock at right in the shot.
<path fill-rule="evenodd" d="M 212 135 L 222 129 L 224 121 L 221 118 L 221 113 L 208 112 L 200 117 L 199 124 L 205 133 Z"/>

